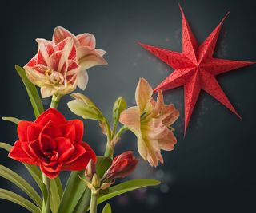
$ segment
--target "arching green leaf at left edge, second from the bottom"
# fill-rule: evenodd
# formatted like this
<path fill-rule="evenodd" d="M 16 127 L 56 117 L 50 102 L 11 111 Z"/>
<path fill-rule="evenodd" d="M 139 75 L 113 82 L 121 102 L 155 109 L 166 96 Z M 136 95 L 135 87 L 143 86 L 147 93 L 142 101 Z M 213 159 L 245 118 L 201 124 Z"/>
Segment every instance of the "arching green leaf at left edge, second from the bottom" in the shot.
<path fill-rule="evenodd" d="M 33 187 L 30 186 L 30 183 L 27 183 L 22 176 L 19 176 L 16 172 L 10 170 L 10 168 L 6 168 L 3 165 L 0 165 L 0 176 L 14 183 L 17 187 L 19 187 L 22 191 L 26 193 L 37 204 L 37 206 L 41 209 L 42 207 L 42 199 L 38 195 L 38 192 L 34 190 Z"/>

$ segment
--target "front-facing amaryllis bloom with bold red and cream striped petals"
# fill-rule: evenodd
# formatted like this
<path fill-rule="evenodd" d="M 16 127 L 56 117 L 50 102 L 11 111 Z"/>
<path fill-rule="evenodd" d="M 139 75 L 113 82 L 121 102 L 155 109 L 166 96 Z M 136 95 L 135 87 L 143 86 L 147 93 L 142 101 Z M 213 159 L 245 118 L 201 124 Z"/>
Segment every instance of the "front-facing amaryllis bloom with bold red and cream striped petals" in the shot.
<path fill-rule="evenodd" d="M 41 41 L 38 53 L 24 66 L 26 76 L 41 87 L 42 97 L 71 93 L 78 84 L 81 66 L 77 62 L 74 41 L 67 37 L 58 45 Z"/>

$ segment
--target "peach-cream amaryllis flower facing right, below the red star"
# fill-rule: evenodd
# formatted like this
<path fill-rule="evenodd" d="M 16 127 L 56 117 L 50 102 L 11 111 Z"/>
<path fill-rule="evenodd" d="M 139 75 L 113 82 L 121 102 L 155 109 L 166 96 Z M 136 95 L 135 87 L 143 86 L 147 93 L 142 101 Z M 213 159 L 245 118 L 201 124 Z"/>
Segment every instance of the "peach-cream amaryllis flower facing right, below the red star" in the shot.
<path fill-rule="evenodd" d="M 174 105 L 164 104 L 161 90 L 157 101 L 152 94 L 148 82 L 141 78 L 135 92 L 137 106 L 123 111 L 119 121 L 137 136 L 142 158 L 156 167 L 159 161 L 163 163 L 161 149 L 171 151 L 177 142 L 170 125 L 178 119 L 179 112 Z"/>

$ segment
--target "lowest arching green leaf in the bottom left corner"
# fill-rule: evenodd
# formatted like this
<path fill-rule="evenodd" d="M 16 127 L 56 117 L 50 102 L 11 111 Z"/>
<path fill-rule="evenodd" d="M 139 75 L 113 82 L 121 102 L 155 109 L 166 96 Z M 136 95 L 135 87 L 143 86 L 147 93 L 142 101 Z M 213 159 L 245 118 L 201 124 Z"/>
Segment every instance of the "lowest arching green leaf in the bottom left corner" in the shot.
<path fill-rule="evenodd" d="M 37 206 L 35 206 L 27 199 L 23 198 L 20 195 L 15 194 L 12 191 L 0 188 L 0 199 L 6 199 L 9 200 L 10 202 L 17 203 L 18 205 L 25 207 L 30 212 L 41 213 Z"/>

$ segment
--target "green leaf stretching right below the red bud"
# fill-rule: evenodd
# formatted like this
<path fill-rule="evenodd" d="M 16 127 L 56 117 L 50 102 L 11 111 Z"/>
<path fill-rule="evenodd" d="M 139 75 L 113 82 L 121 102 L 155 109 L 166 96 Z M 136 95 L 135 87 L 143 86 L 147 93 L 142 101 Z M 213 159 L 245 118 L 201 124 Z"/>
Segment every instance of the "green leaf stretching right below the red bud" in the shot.
<path fill-rule="evenodd" d="M 156 186 L 160 182 L 156 179 L 133 179 L 110 187 L 106 195 L 100 195 L 98 198 L 98 204 L 108 199 L 111 199 L 117 195 L 122 195 L 128 191 L 133 191 L 142 187 Z"/>

